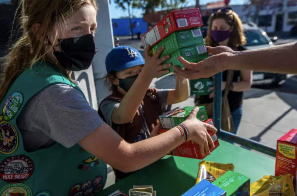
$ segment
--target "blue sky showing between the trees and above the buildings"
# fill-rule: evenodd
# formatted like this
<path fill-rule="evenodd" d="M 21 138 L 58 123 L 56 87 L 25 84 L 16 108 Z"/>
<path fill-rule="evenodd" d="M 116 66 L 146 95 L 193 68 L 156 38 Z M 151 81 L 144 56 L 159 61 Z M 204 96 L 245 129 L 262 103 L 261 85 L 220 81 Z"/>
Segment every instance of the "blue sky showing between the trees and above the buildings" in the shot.
<path fill-rule="evenodd" d="M 205 5 L 207 3 L 211 3 L 211 2 L 216 2 L 218 0 L 200 0 L 200 4 L 201 5 Z M 195 5 L 195 0 L 188 0 L 188 5 Z M 241 5 L 244 4 L 244 2 L 246 2 L 245 0 L 230 0 L 230 5 Z M 110 5 L 110 11 L 111 11 L 111 16 L 112 18 L 120 18 L 122 16 L 128 16 L 128 12 L 127 11 L 122 11 L 120 8 L 117 8 L 116 4 L 114 3 L 113 0 L 111 0 L 111 5 Z M 134 10 L 134 15 L 136 17 L 141 17 L 142 11 L 141 10 Z"/>

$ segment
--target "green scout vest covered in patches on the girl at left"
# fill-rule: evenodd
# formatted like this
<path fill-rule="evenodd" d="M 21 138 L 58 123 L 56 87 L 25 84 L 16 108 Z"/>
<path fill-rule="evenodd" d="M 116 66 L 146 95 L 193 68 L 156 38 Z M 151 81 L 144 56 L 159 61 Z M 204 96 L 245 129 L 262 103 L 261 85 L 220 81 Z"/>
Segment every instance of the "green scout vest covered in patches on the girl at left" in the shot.
<path fill-rule="evenodd" d="M 78 144 L 24 150 L 16 119 L 31 97 L 55 83 L 83 94 L 58 68 L 43 62 L 27 68 L 0 102 L 0 196 L 89 196 L 105 185 L 106 164 Z"/>

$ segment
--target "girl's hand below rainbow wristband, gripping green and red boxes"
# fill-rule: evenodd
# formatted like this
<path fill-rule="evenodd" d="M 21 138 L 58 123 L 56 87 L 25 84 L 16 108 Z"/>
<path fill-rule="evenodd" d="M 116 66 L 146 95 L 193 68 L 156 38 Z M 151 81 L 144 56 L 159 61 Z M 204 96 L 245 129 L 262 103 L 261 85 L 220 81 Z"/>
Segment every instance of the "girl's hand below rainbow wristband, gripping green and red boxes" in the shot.
<path fill-rule="evenodd" d="M 196 142 L 199 145 L 202 156 L 210 154 L 210 149 L 215 148 L 211 136 L 207 130 L 217 132 L 218 130 L 207 123 L 201 122 L 197 119 L 198 107 L 195 107 L 188 118 L 182 123 L 189 133 L 189 140 Z M 205 154 L 206 153 L 206 154 Z"/>

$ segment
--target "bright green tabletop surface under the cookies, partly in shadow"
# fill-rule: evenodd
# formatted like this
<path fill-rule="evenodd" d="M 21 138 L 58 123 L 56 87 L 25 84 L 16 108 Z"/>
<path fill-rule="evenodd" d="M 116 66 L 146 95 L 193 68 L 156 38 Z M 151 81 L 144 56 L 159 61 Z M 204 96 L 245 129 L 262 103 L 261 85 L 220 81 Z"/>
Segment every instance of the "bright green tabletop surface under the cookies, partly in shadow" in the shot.
<path fill-rule="evenodd" d="M 220 146 L 204 160 L 233 163 L 235 171 L 251 178 L 251 183 L 264 175 L 274 175 L 275 158 L 263 156 L 222 140 L 219 142 Z M 166 156 L 106 188 L 99 195 L 107 196 L 118 189 L 128 194 L 133 185 L 153 185 L 158 196 L 180 196 L 195 185 L 199 161 Z"/>

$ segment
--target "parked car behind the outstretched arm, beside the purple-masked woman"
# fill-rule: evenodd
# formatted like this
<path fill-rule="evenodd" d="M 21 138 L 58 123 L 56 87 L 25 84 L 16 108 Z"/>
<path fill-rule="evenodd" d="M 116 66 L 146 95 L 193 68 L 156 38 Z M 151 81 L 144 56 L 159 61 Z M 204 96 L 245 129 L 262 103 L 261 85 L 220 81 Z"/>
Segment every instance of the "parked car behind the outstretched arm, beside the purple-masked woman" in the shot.
<path fill-rule="evenodd" d="M 258 49 L 274 46 L 273 42 L 277 37 L 269 38 L 265 31 L 254 23 L 243 24 L 244 34 L 246 37 L 246 48 Z M 286 80 L 286 74 L 276 74 L 268 72 L 253 72 L 253 85 L 278 85 L 280 81 Z"/>

